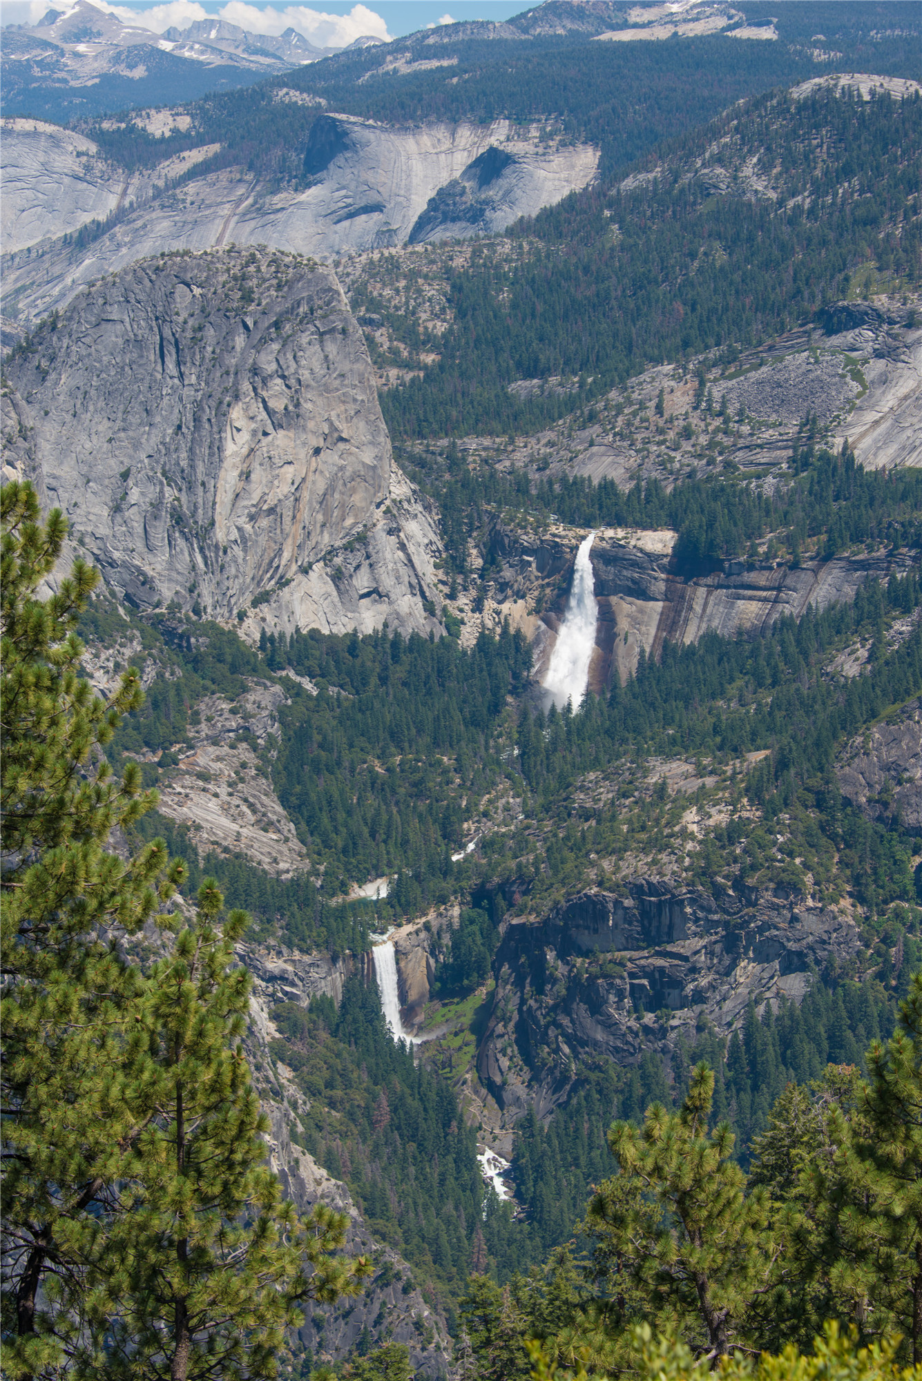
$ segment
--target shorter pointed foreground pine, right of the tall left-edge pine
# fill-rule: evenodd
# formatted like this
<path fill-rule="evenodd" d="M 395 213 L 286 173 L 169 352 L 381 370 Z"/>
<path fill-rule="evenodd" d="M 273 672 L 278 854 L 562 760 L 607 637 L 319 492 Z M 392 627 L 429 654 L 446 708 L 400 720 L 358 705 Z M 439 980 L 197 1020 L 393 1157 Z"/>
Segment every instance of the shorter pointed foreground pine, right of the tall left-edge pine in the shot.
<path fill-rule="evenodd" d="M 357 1294 L 369 1272 L 334 1255 L 348 1219 L 319 1206 L 298 1222 L 264 1164 L 269 1124 L 240 1047 L 250 978 L 233 965 L 247 916 L 221 921 L 222 905 L 206 881 L 145 985 L 149 1119 L 90 1280 L 91 1308 L 112 1322 L 77 1375 L 104 1358 L 116 1381 L 275 1375 L 298 1306 Z"/>

